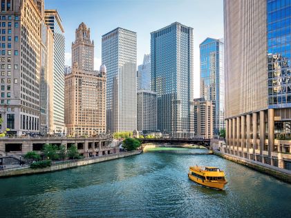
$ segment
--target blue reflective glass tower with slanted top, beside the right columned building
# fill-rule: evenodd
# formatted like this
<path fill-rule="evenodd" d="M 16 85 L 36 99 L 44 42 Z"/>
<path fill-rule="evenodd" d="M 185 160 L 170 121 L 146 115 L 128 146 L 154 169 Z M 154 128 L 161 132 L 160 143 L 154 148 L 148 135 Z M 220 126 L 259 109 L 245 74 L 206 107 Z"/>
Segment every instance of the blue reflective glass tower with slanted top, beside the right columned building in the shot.
<path fill-rule="evenodd" d="M 215 102 L 214 135 L 225 129 L 224 42 L 207 38 L 200 43 L 200 98 Z"/>

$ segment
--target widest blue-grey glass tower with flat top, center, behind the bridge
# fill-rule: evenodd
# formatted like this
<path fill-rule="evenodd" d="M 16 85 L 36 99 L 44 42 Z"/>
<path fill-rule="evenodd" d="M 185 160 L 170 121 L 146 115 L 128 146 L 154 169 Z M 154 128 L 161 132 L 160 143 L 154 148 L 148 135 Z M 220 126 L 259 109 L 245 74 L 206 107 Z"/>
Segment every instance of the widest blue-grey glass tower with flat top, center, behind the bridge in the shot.
<path fill-rule="evenodd" d="M 193 126 L 193 29 L 180 23 L 151 32 L 151 90 L 158 130 L 189 137 Z"/>

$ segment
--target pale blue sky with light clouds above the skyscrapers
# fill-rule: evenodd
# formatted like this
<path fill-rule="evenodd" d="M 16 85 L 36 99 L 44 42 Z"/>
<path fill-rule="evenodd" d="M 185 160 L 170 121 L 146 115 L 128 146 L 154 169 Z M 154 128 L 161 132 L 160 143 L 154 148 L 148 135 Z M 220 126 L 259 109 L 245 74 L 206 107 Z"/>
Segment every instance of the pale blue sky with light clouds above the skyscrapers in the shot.
<path fill-rule="evenodd" d="M 199 44 L 223 38 L 223 0 L 45 0 L 57 9 L 65 30 L 66 65 L 71 66 L 75 29 L 84 22 L 95 43 L 95 70 L 101 65 L 101 38 L 117 27 L 137 32 L 137 66 L 151 50 L 150 33 L 173 22 L 194 28 L 194 98 L 199 97 Z"/>

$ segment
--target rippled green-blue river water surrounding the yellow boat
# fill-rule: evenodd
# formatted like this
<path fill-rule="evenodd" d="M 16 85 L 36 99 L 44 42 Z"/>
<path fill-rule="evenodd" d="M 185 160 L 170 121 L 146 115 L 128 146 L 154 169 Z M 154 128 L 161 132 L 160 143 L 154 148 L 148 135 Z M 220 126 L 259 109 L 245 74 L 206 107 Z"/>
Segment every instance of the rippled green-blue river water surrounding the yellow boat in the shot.
<path fill-rule="evenodd" d="M 146 152 L 71 170 L 0 179 L 0 217 L 291 216 L 290 184 L 215 155 L 191 152 Z M 225 170 L 225 190 L 190 181 L 189 166 L 196 164 Z"/>

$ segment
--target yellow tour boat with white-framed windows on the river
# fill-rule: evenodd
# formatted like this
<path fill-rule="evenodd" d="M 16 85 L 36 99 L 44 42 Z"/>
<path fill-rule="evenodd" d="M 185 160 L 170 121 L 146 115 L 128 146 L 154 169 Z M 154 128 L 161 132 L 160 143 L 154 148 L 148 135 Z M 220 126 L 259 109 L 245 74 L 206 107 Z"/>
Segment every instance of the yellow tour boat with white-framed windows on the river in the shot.
<path fill-rule="evenodd" d="M 190 166 L 189 179 L 210 188 L 223 189 L 227 184 L 225 173 L 216 167 Z"/>

